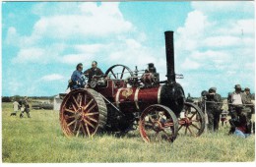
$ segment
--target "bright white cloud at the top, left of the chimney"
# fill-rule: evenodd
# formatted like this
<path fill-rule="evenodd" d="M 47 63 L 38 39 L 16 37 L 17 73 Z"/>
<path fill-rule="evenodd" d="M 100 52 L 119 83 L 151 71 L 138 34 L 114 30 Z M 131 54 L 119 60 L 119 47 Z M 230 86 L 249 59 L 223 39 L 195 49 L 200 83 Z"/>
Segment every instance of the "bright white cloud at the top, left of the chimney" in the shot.
<path fill-rule="evenodd" d="M 66 39 L 92 35 L 102 37 L 133 30 L 132 24 L 124 20 L 118 3 L 102 3 L 100 6 L 82 3 L 77 10 L 80 10 L 79 14 L 41 17 L 34 25 L 32 35 Z"/>

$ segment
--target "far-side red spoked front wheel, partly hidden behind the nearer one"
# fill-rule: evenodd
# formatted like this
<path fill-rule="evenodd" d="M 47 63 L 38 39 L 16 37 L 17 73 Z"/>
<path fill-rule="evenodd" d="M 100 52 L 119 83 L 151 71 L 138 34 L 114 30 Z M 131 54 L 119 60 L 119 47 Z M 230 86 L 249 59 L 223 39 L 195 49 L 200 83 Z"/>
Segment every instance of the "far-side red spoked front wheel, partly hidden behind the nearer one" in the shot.
<path fill-rule="evenodd" d="M 185 102 L 178 123 L 179 135 L 199 137 L 205 130 L 205 115 L 197 105 Z"/>

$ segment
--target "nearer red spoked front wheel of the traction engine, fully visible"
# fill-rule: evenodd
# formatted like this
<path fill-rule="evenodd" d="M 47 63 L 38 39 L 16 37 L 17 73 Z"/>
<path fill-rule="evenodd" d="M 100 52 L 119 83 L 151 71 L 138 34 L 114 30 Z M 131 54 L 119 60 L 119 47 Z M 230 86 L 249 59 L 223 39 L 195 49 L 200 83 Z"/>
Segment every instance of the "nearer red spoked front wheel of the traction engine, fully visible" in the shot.
<path fill-rule="evenodd" d="M 139 122 L 142 139 L 146 142 L 176 139 L 178 121 L 175 114 L 166 106 L 155 104 L 146 108 Z"/>

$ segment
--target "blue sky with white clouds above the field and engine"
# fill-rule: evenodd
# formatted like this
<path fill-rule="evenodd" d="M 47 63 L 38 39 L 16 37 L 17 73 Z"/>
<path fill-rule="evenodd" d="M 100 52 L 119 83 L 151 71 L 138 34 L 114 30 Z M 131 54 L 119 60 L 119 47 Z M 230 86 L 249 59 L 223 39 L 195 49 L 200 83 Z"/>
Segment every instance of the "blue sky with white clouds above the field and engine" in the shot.
<path fill-rule="evenodd" d="M 146 69 L 165 80 L 165 30 L 185 93 L 236 83 L 254 92 L 253 2 L 3 2 L 2 95 L 64 92 L 78 63 Z"/>

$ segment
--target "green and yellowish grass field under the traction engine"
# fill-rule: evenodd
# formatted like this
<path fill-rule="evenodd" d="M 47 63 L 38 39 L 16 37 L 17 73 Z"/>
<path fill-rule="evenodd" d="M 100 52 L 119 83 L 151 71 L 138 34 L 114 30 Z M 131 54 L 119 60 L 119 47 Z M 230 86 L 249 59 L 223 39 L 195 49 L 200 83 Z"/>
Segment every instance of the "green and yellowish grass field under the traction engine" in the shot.
<path fill-rule="evenodd" d="M 227 136 L 229 127 L 199 138 L 178 137 L 173 143 L 145 143 L 138 131 L 125 137 L 100 135 L 66 138 L 57 111 L 32 110 L 32 118 L 10 117 L 11 103 L 2 103 L 2 161 L 52 162 L 251 162 L 255 136 Z"/>

